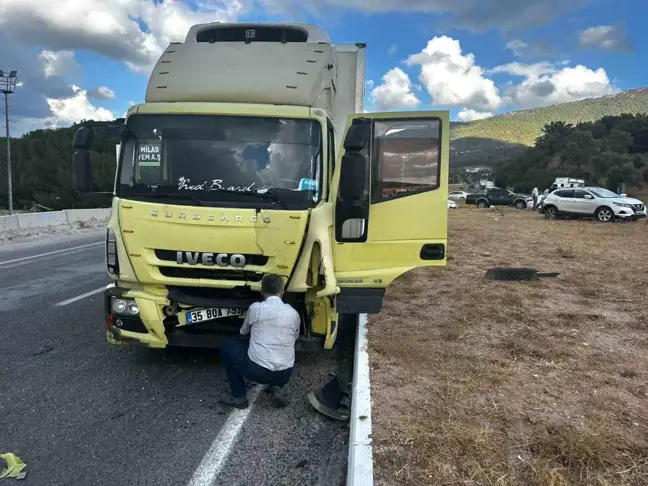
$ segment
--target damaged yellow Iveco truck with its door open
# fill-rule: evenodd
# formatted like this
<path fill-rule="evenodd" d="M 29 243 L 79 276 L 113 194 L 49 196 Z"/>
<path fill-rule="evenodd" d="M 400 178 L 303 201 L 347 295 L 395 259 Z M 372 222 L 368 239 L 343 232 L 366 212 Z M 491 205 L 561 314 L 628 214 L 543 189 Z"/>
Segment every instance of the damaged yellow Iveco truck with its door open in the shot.
<path fill-rule="evenodd" d="M 121 127 L 110 343 L 244 339 L 278 274 L 297 349 L 329 349 L 342 315 L 378 313 L 399 275 L 445 265 L 448 112 L 363 112 L 365 50 L 308 24 L 212 23 L 162 53 Z M 81 192 L 92 139 L 74 138 Z"/>

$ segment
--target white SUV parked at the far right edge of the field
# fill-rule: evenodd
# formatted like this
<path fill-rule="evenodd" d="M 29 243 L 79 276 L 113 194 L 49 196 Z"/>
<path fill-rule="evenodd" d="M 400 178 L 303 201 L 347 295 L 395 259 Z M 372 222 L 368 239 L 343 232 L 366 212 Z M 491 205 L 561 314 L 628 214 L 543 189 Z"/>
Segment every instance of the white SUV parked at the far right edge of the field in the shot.
<path fill-rule="evenodd" d="M 560 216 L 595 217 L 607 223 L 614 219 L 646 217 L 646 205 L 639 199 L 620 196 L 600 187 L 556 189 L 542 201 L 542 212 L 547 219 Z"/>

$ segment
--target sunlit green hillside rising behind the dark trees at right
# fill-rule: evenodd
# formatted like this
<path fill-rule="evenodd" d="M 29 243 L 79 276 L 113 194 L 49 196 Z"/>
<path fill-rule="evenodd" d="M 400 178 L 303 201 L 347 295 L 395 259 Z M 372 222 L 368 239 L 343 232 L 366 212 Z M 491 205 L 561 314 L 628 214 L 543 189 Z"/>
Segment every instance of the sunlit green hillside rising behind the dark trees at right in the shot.
<path fill-rule="evenodd" d="M 450 133 L 451 163 L 494 165 L 532 146 L 548 123 L 577 124 L 622 113 L 648 113 L 648 88 L 457 124 Z"/>

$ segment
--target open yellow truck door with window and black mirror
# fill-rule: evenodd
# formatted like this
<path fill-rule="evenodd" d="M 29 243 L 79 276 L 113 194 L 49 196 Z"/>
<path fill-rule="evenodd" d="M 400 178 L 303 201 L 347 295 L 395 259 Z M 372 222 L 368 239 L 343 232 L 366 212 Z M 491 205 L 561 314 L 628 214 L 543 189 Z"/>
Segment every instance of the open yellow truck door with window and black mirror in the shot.
<path fill-rule="evenodd" d="M 446 264 L 449 113 L 349 118 L 332 185 L 335 308 L 374 314 L 398 276 Z"/>

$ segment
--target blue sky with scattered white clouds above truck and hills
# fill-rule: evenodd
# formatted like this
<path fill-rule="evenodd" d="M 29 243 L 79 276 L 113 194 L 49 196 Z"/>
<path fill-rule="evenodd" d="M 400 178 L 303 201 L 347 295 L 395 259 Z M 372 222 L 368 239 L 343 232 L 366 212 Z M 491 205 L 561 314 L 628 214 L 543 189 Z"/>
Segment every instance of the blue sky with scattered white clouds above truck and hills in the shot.
<path fill-rule="evenodd" d="M 205 22 L 306 22 L 367 44 L 367 111 L 471 121 L 648 85 L 648 0 L 0 0 L 18 136 L 141 103 L 160 53 Z"/>

